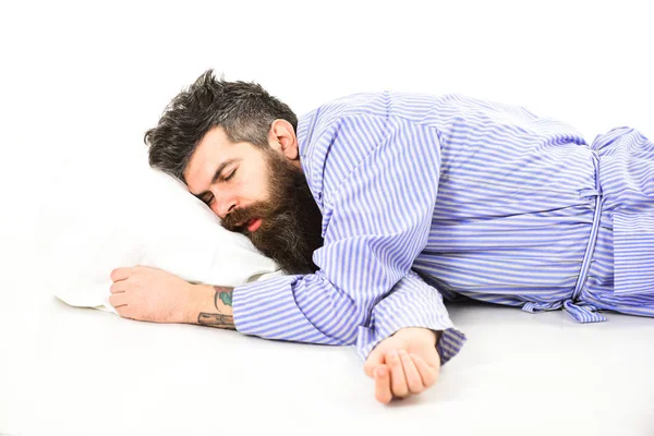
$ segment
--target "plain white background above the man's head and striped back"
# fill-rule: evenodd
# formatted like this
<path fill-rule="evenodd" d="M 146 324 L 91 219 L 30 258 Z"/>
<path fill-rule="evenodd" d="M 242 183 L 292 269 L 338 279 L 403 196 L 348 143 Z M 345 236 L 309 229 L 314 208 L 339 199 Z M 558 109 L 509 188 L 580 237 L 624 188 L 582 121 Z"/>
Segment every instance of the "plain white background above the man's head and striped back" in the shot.
<path fill-rule="evenodd" d="M 589 143 L 618 125 L 652 137 L 652 17 L 646 1 L 3 1 L 0 304 L 19 311 L 38 282 L 38 207 L 64 162 L 142 149 L 208 68 L 298 114 L 363 90 L 458 92 L 561 119 Z"/>

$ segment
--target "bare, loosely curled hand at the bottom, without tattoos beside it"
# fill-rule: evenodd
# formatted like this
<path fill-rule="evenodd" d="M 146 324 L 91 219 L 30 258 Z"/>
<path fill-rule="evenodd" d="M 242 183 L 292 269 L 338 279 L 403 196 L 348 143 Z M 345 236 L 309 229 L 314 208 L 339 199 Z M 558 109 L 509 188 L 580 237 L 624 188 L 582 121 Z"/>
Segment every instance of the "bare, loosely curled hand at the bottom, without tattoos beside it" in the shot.
<path fill-rule="evenodd" d="M 436 342 L 440 336 L 426 328 L 402 328 L 375 347 L 364 371 L 375 379 L 375 398 L 388 403 L 433 386 L 440 374 Z"/>

